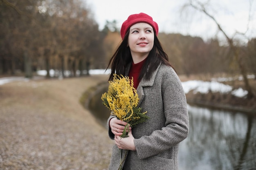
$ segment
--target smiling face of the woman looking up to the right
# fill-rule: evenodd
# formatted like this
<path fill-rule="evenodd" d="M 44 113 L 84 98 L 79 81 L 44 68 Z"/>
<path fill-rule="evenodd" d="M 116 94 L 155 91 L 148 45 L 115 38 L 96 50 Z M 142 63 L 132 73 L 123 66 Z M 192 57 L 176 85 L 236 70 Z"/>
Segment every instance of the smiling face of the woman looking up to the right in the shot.
<path fill-rule="evenodd" d="M 148 56 L 154 45 L 154 31 L 150 24 L 140 22 L 130 27 L 128 46 L 132 56 Z"/>

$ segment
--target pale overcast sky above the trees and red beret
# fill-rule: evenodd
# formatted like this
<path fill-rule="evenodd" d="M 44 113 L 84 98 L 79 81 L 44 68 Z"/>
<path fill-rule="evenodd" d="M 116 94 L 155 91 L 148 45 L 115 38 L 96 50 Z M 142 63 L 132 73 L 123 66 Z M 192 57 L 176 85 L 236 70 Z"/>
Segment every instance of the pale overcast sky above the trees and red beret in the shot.
<path fill-rule="evenodd" d="M 106 20 L 117 20 L 118 27 L 130 14 L 144 12 L 153 17 L 159 25 L 160 32 L 182 33 L 200 36 L 205 40 L 216 35 L 216 24 L 205 15 L 181 12 L 181 7 L 188 0 L 84 0 L 94 13 L 94 18 L 101 30 Z M 207 0 L 201 0 L 207 1 Z M 256 0 L 211 0 L 210 12 L 220 22 L 223 29 L 234 35 L 235 31 L 246 32 L 249 18 L 249 7 L 252 9 L 247 35 L 256 37 Z"/>

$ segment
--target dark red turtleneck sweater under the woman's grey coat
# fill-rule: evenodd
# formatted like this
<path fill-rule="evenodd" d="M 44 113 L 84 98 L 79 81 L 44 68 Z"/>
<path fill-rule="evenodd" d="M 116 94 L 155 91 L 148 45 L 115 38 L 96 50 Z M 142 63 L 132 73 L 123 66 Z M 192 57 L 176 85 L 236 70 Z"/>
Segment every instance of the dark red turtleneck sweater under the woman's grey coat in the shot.
<path fill-rule="evenodd" d="M 132 79 L 133 77 L 133 87 L 135 89 L 137 89 L 138 85 L 139 85 L 139 74 L 141 72 L 142 66 L 145 63 L 146 59 L 144 59 L 143 61 L 134 64 L 132 62 L 132 66 L 130 68 L 130 72 L 129 72 L 129 78 Z"/>

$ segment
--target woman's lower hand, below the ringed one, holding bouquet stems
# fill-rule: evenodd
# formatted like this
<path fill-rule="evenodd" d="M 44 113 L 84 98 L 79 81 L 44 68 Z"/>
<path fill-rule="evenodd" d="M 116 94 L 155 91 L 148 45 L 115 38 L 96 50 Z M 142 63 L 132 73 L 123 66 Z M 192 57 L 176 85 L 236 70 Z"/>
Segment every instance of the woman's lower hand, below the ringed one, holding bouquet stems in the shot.
<path fill-rule="evenodd" d="M 115 135 L 115 144 L 119 149 L 125 150 L 136 150 L 134 145 L 134 137 L 132 136 L 132 130 L 128 132 L 129 137 L 121 138 L 118 135 Z"/>

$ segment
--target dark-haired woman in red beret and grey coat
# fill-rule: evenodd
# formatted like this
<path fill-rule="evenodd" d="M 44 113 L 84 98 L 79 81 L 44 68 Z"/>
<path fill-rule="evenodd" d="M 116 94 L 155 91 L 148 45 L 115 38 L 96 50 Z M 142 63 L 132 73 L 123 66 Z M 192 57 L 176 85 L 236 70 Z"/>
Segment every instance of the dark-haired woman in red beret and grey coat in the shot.
<path fill-rule="evenodd" d="M 189 132 L 186 97 L 177 74 L 157 39 L 158 25 L 145 14 L 133 14 L 121 26 L 122 42 L 112 56 L 109 80 L 113 74 L 134 79 L 142 112 L 150 117 L 120 138 L 126 122 L 108 119 L 109 136 L 115 140 L 110 170 L 120 164 L 123 170 L 177 170 L 179 143 Z"/>

